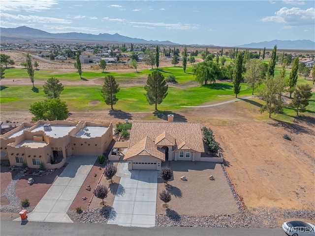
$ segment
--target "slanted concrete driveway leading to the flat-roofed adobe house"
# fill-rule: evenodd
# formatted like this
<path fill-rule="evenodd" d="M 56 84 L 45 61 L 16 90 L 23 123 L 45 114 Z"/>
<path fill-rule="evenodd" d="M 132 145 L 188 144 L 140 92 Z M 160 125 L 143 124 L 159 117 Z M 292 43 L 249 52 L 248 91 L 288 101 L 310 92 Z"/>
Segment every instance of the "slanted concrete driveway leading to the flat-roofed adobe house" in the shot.
<path fill-rule="evenodd" d="M 96 156 L 68 157 L 68 165 L 28 215 L 28 221 L 72 222 L 66 214 L 92 169 Z"/>

